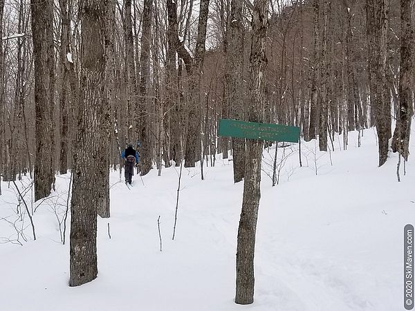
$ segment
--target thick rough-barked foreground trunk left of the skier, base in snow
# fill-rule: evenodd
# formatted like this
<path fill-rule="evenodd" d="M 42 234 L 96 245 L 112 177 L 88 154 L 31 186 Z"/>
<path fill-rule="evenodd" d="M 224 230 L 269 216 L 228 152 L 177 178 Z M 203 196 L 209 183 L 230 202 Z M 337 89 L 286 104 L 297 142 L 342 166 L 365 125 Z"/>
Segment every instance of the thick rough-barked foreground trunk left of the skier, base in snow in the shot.
<path fill-rule="evenodd" d="M 98 274 L 97 206 L 100 160 L 100 116 L 104 98 L 109 0 L 83 0 L 81 18 L 81 84 L 71 200 L 70 286 Z M 107 152 L 105 150 L 104 152 Z"/>

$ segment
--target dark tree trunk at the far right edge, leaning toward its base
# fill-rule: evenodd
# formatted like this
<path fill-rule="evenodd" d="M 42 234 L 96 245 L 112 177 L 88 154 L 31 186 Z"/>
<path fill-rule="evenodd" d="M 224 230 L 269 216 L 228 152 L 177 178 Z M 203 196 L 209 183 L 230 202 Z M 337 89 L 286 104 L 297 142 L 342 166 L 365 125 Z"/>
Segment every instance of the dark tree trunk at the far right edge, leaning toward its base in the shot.
<path fill-rule="evenodd" d="M 409 156 L 409 134 L 411 133 L 412 77 L 414 76 L 414 28 L 412 7 L 414 0 L 400 0 L 400 71 L 399 71 L 399 111 L 392 150 L 398 151 L 405 160 Z"/>

